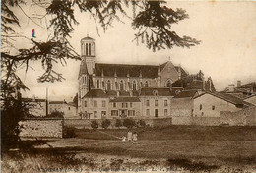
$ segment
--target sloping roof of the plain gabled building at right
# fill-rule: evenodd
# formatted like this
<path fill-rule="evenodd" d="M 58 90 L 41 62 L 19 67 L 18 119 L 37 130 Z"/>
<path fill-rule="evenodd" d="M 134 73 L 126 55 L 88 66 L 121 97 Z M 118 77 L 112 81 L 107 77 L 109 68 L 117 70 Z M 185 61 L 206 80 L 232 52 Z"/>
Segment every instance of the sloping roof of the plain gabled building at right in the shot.
<path fill-rule="evenodd" d="M 201 95 L 198 95 L 198 96 L 194 97 L 194 99 L 196 99 L 196 98 L 198 98 L 198 97 L 200 97 L 202 95 L 205 95 L 205 94 L 211 94 L 211 95 L 213 95 L 215 97 L 223 99 L 224 101 L 227 101 L 227 102 L 229 102 L 231 104 L 234 104 L 236 107 L 253 106 L 253 104 L 248 103 L 246 101 L 243 101 L 242 99 L 239 99 L 239 98 L 237 98 L 235 96 L 232 96 L 230 94 L 220 93 L 220 92 L 219 93 L 218 92 L 215 92 L 215 93 L 213 93 L 213 92 L 205 92 L 205 93 L 203 93 Z"/>

